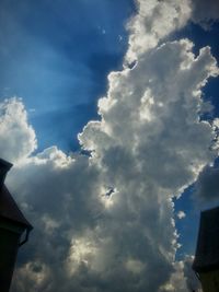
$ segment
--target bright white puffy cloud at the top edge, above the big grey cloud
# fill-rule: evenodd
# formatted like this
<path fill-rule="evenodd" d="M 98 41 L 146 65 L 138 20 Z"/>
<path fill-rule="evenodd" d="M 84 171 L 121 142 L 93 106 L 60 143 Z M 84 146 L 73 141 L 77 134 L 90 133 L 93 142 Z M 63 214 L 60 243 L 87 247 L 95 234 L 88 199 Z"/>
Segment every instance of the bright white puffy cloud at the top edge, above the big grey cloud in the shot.
<path fill-rule="evenodd" d="M 170 33 L 183 27 L 191 15 L 188 0 L 136 2 L 138 13 L 128 24 L 130 37 L 126 59 L 129 62 L 155 47 Z"/>

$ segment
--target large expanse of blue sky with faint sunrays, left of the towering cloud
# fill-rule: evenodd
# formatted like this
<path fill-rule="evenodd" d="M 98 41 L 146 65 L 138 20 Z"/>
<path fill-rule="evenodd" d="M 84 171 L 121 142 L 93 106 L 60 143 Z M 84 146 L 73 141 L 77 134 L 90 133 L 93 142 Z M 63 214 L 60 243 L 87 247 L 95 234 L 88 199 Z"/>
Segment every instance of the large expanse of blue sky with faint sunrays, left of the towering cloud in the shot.
<path fill-rule="evenodd" d="M 1 7 L 1 98 L 23 98 L 38 149 L 76 150 L 77 133 L 97 117 L 108 72 L 122 68 L 132 1 L 3 1 Z"/>

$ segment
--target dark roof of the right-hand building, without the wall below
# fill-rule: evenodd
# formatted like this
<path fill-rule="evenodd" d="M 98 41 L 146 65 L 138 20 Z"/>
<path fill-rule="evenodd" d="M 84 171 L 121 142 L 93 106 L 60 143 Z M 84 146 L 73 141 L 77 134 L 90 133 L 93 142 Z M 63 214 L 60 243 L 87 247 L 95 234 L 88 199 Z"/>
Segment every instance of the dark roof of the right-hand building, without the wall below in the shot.
<path fill-rule="evenodd" d="M 219 269 L 219 207 L 200 213 L 199 233 L 193 269 Z"/>

